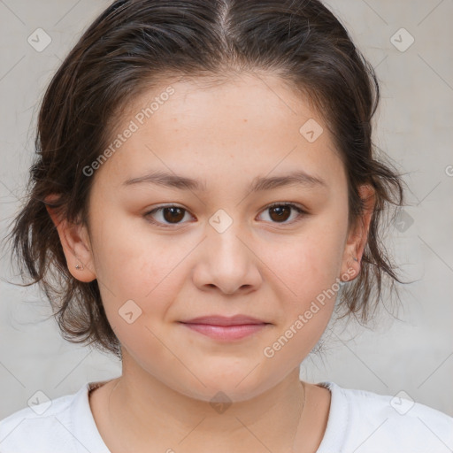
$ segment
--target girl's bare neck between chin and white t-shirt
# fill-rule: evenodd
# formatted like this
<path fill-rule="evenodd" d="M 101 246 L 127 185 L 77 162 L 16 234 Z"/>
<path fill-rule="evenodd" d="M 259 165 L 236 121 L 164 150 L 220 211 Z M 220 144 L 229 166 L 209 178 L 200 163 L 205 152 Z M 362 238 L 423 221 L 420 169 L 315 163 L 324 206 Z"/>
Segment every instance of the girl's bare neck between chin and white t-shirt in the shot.
<path fill-rule="evenodd" d="M 297 438 L 305 433 L 307 404 L 298 367 L 264 393 L 222 406 L 183 395 L 142 369 L 129 369 L 132 361 L 125 358 L 108 408 L 124 450 L 150 451 L 152 445 L 177 453 L 288 453 L 296 433 Z"/>

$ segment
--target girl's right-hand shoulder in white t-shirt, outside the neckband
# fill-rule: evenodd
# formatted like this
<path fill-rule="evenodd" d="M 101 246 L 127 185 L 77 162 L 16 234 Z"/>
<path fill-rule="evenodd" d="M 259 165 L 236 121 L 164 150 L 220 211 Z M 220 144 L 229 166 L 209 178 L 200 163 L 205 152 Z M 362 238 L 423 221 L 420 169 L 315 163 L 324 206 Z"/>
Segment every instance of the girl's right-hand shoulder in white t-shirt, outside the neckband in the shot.
<path fill-rule="evenodd" d="M 343 424 L 345 450 L 353 449 L 356 453 L 453 450 L 453 418 L 416 403 L 407 393 L 380 395 L 341 388 L 333 382 L 325 384 L 332 392 L 332 428 L 335 423 Z"/>

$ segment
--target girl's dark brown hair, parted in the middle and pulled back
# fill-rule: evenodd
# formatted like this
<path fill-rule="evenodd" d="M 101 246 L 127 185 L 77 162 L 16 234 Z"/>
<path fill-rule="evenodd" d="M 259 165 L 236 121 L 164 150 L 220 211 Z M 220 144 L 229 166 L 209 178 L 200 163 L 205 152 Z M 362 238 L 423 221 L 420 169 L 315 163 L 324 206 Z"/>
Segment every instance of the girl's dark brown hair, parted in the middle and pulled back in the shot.
<path fill-rule="evenodd" d="M 82 169 L 111 142 L 127 105 L 172 76 L 221 79 L 240 72 L 277 74 L 315 105 L 345 165 L 349 226 L 365 208 L 357 187 L 375 190 L 361 272 L 342 286 L 345 315 L 361 313 L 367 321 L 380 302 L 382 277 L 392 288 L 402 283 L 380 242 L 381 213 L 403 205 L 403 181 L 378 161 L 372 143 L 379 83 L 334 14 L 318 0 L 121 0 L 88 27 L 45 92 L 27 199 L 11 232 L 22 276 L 33 279 L 24 286 L 41 285 L 66 340 L 121 357 L 98 282 L 69 273 L 44 199 L 58 194 L 48 204 L 88 226 L 94 178 Z"/>

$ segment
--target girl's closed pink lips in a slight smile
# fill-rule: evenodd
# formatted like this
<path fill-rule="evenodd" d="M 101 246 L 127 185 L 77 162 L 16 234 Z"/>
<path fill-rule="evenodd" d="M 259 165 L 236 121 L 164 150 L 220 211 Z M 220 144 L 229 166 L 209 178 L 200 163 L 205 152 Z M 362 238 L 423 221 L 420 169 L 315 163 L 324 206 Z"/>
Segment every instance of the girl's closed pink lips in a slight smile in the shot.
<path fill-rule="evenodd" d="M 210 337 L 220 342 L 233 342 L 246 338 L 263 330 L 270 325 L 261 319 L 251 318 L 244 315 L 233 317 L 225 316 L 203 316 L 200 318 L 180 321 L 180 324 L 187 326 L 190 330 Z"/>

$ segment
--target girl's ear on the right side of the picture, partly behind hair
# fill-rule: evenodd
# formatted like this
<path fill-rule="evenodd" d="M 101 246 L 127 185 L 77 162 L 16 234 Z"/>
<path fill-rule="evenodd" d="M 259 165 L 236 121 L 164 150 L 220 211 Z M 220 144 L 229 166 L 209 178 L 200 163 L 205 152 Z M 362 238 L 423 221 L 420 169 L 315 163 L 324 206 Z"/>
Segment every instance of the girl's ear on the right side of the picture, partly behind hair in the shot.
<path fill-rule="evenodd" d="M 374 189 L 369 184 L 359 186 L 358 194 L 365 203 L 362 216 L 349 232 L 342 260 L 342 276 L 344 281 L 354 280 L 360 273 L 360 261 L 364 254 L 365 245 L 368 239 L 368 231 L 374 211 Z M 354 259 L 357 258 L 357 261 Z"/>

